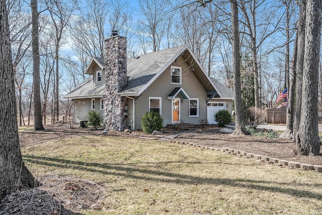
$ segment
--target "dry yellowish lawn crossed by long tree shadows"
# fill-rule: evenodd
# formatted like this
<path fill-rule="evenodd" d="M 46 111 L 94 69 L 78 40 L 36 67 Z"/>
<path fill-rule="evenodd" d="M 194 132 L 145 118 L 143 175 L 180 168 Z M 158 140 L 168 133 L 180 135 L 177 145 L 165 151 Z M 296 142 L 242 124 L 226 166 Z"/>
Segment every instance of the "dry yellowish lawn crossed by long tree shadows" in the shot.
<path fill-rule="evenodd" d="M 85 214 L 320 214 L 322 175 L 133 137 L 87 136 L 22 148 L 35 176 L 105 187 Z"/>

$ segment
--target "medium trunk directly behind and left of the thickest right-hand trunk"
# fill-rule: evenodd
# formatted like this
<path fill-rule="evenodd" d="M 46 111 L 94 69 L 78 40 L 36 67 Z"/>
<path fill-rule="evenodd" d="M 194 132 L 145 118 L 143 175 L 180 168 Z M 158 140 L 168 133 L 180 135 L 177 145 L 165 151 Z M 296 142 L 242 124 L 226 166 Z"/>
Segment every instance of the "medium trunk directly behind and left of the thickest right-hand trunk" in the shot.
<path fill-rule="evenodd" d="M 296 141 L 296 133 L 300 126 L 301 105 L 302 105 L 302 78 L 303 78 L 303 62 L 304 62 L 304 44 L 305 44 L 305 17 L 306 17 L 306 0 L 299 1 L 300 12 L 298 16 L 297 27 L 297 59 L 296 59 L 296 98 L 295 98 L 295 114 L 293 123 L 293 141 Z"/>

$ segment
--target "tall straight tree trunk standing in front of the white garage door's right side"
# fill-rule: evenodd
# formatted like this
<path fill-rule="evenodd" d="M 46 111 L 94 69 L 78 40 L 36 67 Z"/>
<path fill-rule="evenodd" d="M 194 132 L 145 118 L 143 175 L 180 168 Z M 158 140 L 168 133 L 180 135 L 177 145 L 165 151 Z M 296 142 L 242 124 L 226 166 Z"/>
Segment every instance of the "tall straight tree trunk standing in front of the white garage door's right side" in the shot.
<path fill-rule="evenodd" d="M 231 8 L 231 47 L 232 47 L 232 64 L 233 64 L 233 86 L 235 99 L 235 130 L 233 135 L 245 135 L 247 133 L 243 107 L 241 104 L 241 88 L 240 88 L 240 44 L 239 44 L 239 28 L 238 28 L 238 6 L 236 0 L 230 0 Z"/>

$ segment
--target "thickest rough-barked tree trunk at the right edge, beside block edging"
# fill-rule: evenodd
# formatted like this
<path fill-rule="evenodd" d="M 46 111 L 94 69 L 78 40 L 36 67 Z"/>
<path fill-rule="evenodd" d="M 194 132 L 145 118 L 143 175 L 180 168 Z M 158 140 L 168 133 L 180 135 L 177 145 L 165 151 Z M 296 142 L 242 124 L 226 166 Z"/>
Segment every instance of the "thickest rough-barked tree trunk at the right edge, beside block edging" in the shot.
<path fill-rule="evenodd" d="M 300 127 L 296 134 L 296 151 L 300 155 L 319 155 L 317 125 L 318 62 L 321 44 L 320 0 L 307 0 L 305 51 L 303 63 L 302 107 Z"/>

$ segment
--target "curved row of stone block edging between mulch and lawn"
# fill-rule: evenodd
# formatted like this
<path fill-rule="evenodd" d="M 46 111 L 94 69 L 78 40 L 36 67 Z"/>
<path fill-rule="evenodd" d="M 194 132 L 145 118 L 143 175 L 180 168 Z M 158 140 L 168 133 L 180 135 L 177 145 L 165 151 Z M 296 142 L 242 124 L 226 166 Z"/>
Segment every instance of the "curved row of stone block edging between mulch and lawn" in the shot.
<path fill-rule="evenodd" d="M 201 146 L 201 145 L 195 144 L 194 142 L 185 142 L 185 141 L 176 141 L 176 140 L 167 140 L 167 141 L 176 142 L 177 144 L 182 144 L 182 145 L 199 147 L 199 148 L 203 148 L 203 149 L 207 149 L 207 150 L 214 150 L 217 152 L 223 152 L 226 154 L 234 155 L 238 158 L 253 159 L 253 160 L 259 161 L 259 162 L 266 162 L 269 164 L 275 164 L 277 166 L 283 166 L 283 167 L 288 167 L 288 168 L 292 168 L 292 169 L 301 169 L 301 170 L 311 170 L 311 171 L 322 172 L 321 165 L 311 165 L 311 164 L 304 164 L 304 163 L 299 163 L 299 162 L 294 162 L 294 161 L 286 161 L 286 160 L 281 160 L 278 158 L 271 158 L 271 157 L 267 157 L 267 156 L 255 155 L 253 153 L 234 150 L 234 149 L 230 149 L 227 147 L 223 147 L 222 149 L 216 149 L 213 147 Z"/>

